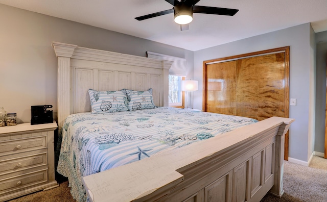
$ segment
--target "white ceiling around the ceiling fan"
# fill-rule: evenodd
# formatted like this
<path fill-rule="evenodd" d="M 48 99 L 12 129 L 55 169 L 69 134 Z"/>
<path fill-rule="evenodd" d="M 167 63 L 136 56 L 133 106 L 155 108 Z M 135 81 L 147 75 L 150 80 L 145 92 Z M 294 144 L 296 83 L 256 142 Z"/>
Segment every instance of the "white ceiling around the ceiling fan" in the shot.
<path fill-rule="evenodd" d="M 198 6 L 240 11 L 235 16 L 194 13 L 187 31 L 180 31 L 173 13 L 134 19 L 173 8 L 165 0 L 0 0 L 0 4 L 193 51 L 308 22 L 316 33 L 327 30 L 327 0 L 201 0 Z"/>

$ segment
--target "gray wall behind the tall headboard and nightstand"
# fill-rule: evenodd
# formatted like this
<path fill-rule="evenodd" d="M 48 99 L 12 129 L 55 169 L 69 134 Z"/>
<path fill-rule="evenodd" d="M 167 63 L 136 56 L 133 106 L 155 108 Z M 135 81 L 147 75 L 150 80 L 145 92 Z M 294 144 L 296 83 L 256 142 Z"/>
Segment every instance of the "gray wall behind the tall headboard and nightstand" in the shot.
<path fill-rule="evenodd" d="M 30 122 L 31 106 L 57 112 L 57 58 L 52 41 L 146 56 L 146 51 L 186 59 L 193 77 L 193 52 L 85 24 L 0 4 L 0 106 Z"/>

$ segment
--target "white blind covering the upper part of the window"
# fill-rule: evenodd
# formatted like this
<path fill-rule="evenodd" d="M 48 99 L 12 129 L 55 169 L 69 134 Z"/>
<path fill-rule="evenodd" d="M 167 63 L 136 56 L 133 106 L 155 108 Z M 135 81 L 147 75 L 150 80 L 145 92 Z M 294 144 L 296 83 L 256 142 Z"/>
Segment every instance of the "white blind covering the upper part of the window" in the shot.
<path fill-rule="evenodd" d="M 155 58 L 159 60 L 168 60 L 173 61 L 174 63 L 169 69 L 169 74 L 171 75 L 178 75 L 181 77 L 186 77 L 186 59 L 178 58 L 174 56 L 168 56 L 164 54 L 158 54 L 147 51 L 148 58 Z"/>

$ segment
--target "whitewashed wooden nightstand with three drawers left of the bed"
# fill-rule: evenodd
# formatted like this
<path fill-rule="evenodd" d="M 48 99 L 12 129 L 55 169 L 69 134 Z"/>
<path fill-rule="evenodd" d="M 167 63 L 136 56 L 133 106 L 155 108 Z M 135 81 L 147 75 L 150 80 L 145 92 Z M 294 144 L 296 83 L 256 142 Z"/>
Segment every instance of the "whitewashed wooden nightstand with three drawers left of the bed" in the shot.
<path fill-rule="evenodd" d="M 54 131 L 57 123 L 0 127 L 0 201 L 58 187 Z"/>

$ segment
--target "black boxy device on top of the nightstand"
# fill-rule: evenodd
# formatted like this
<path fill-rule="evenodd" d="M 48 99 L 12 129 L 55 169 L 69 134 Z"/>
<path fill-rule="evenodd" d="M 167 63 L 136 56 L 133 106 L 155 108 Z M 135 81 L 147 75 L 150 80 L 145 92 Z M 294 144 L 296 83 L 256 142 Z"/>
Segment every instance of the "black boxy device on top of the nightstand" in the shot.
<path fill-rule="evenodd" d="M 52 123 L 53 113 L 52 110 L 46 110 L 52 108 L 52 105 L 39 105 L 31 106 L 31 125 Z"/>

